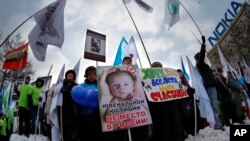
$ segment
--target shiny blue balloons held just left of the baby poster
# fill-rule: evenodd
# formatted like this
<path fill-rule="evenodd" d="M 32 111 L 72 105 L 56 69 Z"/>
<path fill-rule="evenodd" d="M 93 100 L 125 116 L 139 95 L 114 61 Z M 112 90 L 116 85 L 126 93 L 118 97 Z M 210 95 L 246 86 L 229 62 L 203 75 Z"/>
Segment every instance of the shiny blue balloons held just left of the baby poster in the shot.
<path fill-rule="evenodd" d="M 73 101 L 86 108 L 98 108 L 98 90 L 95 84 L 86 84 L 74 86 L 71 90 Z"/>

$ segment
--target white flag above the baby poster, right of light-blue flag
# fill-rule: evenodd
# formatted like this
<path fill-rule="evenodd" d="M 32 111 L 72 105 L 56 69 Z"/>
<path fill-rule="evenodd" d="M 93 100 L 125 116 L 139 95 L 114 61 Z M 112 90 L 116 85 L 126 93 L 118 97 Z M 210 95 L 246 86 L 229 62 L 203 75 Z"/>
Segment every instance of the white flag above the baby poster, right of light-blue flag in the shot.
<path fill-rule="evenodd" d="M 133 65 L 136 64 L 136 60 L 138 58 L 138 52 L 133 36 L 131 36 L 128 45 L 125 47 L 124 57 L 130 57 L 132 59 L 132 64 Z"/>

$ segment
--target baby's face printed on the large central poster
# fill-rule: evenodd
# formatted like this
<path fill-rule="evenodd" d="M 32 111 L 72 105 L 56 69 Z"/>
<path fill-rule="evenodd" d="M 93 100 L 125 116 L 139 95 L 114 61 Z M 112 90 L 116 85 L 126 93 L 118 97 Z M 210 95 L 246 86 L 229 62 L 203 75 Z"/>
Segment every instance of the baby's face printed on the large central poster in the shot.
<path fill-rule="evenodd" d="M 133 94 L 134 81 L 128 74 L 119 74 L 113 76 L 109 88 L 112 96 L 126 99 Z"/>

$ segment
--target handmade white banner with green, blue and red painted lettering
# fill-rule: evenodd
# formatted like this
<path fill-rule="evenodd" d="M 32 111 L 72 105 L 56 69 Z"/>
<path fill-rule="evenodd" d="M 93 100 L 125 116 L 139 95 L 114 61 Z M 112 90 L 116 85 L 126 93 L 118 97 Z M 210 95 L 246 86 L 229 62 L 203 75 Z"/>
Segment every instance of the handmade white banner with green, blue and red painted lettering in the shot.
<path fill-rule="evenodd" d="M 140 76 L 149 101 L 163 102 L 188 97 L 186 86 L 182 85 L 175 69 L 146 68 Z"/>

